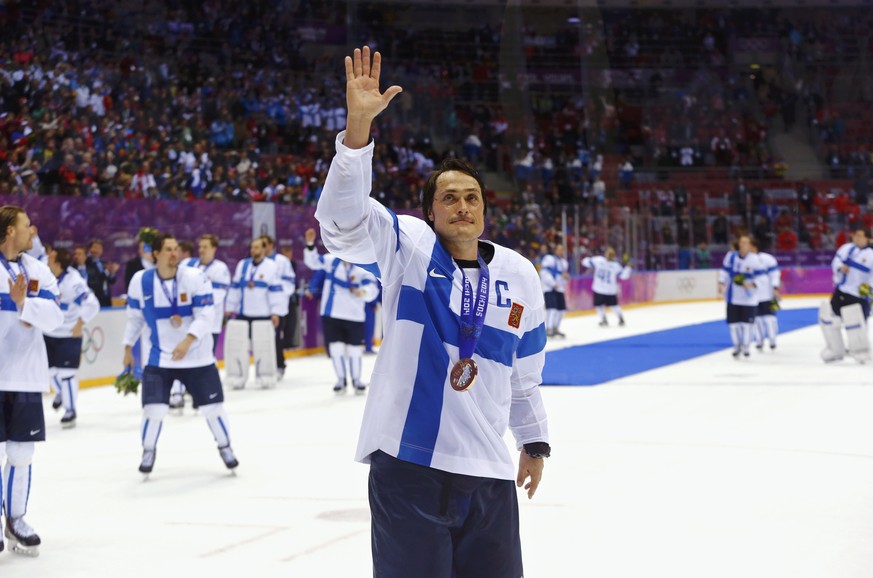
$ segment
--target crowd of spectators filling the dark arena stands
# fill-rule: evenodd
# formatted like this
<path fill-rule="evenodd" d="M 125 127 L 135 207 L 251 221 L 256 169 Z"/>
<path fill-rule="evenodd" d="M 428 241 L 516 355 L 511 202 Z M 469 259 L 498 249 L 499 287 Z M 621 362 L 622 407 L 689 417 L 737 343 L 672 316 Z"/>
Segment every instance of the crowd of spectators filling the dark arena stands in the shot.
<path fill-rule="evenodd" d="M 500 27 L 487 21 L 466 30 L 390 26 L 396 14 L 364 7 L 351 37 L 339 1 L 15 6 L 0 13 L 0 195 L 314 204 L 345 122 L 337 55 L 345 42 L 367 42 L 406 89 L 377 123 L 376 198 L 415 208 L 427 173 L 446 156 L 464 156 L 514 182 L 517 194 L 493 205 L 490 235 L 531 255 L 562 237 L 561 206 L 583 209 L 579 246 L 617 237 L 617 224 L 603 224 L 610 199 L 641 170 L 778 177 L 768 132 L 780 111 L 786 127 L 794 122 L 797 102 L 822 140 L 838 144 L 843 129 L 817 73 L 834 54 L 851 60 L 857 51 L 843 36 L 861 26 L 839 15 L 824 24 L 786 20 L 774 10 L 760 18 L 592 11 L 549 32 L 524 29 L 527 72 L 513 77 L 501 71 Z M 747 77 L 732 48 L 756 34 L 781 36 L 787 56 Z M 339 50 L 308 49 L 331 45 Z M 538 76 L 580 64 L 588 72 L 570 86 Z M 521 104 L 512 98 L 519 87 Z M 866 182 L 869 154 L 834 150 L 832 176 Z M 662 188 L 647 214 L 676 225 L 659 227 L 659 242 L 718 243 L 733 232 L 685 202 L 681 187 Z M 799 195 L 798 210 L 771 214 L 765 199 L 750 197 L 733 215 L 766 230 L 765 243 L 810 247 L 828 241 L 818 232 L 827 217 L 866 218 L 856 210 L 866 205 L 860 185 L 847 206 L 814 190 Z M 800 218 L 812 213 L 823 225 Z M 793 241 L 782 234 L 792 224 Z M 810 226 L 818 229 L 804 233 Z"/>

